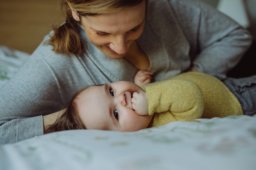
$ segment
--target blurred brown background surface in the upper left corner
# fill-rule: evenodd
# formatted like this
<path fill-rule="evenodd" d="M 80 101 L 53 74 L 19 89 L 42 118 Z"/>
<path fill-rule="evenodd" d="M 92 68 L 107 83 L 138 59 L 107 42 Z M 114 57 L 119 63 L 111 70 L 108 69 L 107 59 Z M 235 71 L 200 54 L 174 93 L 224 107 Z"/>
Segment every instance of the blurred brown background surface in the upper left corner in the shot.
<path fill-rule="evenodd" d="M 58 0 L 0 0 L 0 45 L 32 54 L 61 14 Z"/>

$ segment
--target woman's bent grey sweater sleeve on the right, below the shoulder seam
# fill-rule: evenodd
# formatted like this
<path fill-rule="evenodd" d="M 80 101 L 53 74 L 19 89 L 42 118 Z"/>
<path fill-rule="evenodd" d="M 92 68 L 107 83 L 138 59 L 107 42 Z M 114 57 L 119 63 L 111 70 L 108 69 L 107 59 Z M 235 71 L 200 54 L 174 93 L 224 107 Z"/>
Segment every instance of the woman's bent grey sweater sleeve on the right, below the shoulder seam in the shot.
<path fill-rule="evenodd" d="M 170 3 L 197 71 L 225 75 L 250 46 L 249 32 L 209 5 L 193 0 Z"/>

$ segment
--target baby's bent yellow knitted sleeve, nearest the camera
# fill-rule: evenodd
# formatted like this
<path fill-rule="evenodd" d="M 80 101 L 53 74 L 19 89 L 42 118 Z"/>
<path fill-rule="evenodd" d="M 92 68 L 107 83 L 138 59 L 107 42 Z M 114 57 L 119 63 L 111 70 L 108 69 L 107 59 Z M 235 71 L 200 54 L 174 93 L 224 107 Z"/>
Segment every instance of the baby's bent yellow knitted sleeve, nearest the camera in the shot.
<path fill-rule="evenodd" d="M 149 115 L 154 114 L 149 127 L 174 121 L 200 118 L 204 110 L 204 96 L 199 86 L 189 80 L 168 80 L 151 83 L 146 88 Z"/>

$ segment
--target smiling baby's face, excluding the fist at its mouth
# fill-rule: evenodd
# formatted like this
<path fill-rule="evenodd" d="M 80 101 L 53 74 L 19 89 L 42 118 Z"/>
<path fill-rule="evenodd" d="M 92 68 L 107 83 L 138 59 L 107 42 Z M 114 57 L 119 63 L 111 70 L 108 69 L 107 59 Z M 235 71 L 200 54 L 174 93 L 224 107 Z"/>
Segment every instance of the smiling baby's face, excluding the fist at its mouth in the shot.
<path fill-rule="evenodd" d="M 77 100 L 78 114 L 87 129 L 131 132 L 147 128 L 153 115 L 138 115 L 132 108 L 132 93 L 145 93 L 132 82 L 92 86 Z"/>

